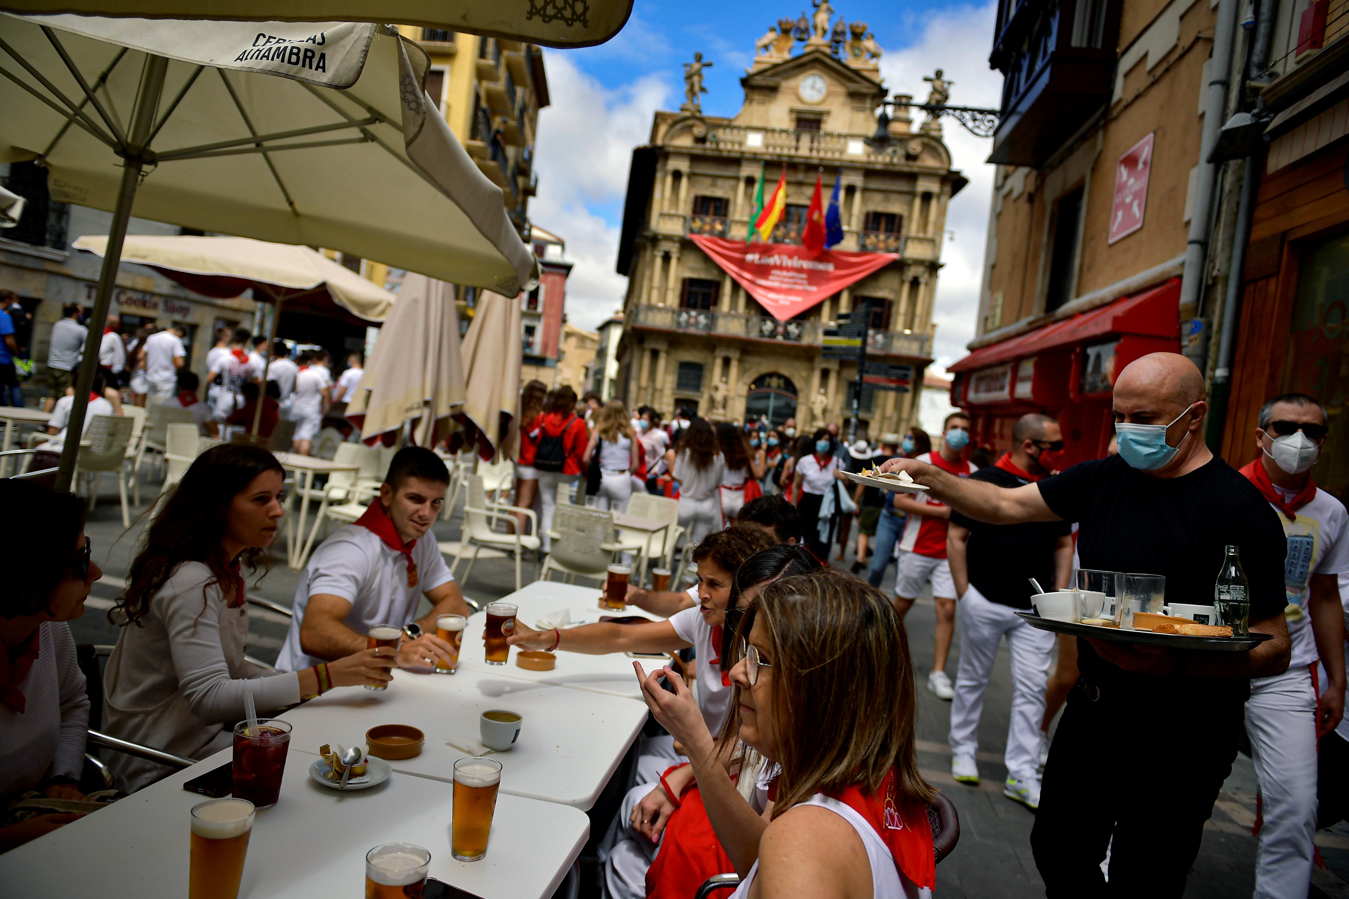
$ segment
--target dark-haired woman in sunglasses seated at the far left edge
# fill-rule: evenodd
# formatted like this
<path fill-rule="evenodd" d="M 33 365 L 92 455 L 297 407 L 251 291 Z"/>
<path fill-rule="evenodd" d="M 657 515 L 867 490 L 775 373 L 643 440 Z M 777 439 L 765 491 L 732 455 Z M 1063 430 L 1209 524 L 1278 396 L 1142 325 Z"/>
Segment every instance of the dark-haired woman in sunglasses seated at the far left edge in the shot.
<path fill-rule="evenodd" d="M 5 590 L 0 598 L 0 817 L 28 791 L 84 799 L 89 697 L 70 625 L 84 615 L 89 588 L 103 577 L 84 534 L 84 500 L 22 480 L 0 480 L 0 508 L 23 509 L 24 526 L 0 542 Z M 0 852 L 80 818 L 40 814 L 0 826 Z"/>

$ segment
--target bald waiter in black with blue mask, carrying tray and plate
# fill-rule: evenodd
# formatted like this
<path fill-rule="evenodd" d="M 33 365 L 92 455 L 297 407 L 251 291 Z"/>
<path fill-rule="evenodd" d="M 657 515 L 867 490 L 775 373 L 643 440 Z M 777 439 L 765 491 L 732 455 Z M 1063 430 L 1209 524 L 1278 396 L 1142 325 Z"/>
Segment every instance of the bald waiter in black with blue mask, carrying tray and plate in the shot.
<path fill-rule="evenodd" d="M 1114 384 L 1120 454 L 1017 488 L 892 460 L 952 509 L 990 524 L 1078 522 L 1082 567 L 1164 574 L 1167 598 L 1211 604 L 1224 546 L 1241 549 L 1249 652 L 1078 640 L 1082 678 L 1050 748 L 1031 848 L 1045 895 L 1180 896 L 1203 822 L 1237 753 L 1249 678 L 1288 667 L 1284 539 L 1273 509 L 1203 443 L 1203 377 L 1176 353 L 1128 365 Z"/>

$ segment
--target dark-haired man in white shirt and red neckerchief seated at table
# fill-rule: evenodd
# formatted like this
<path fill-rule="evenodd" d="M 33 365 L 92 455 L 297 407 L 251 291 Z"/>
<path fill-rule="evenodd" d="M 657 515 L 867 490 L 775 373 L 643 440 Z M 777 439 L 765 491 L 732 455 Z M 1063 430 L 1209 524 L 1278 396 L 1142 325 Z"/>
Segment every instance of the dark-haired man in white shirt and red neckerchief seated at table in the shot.
<path fill-rule="evenodd" d="M 299 671 L 366 648 L 372 627 L 405 628 L 425 596 L 432 609 L 405 636 L 398 666 L 430 670 L 451 659 L 452 647 L 436 636 L 441 615 L 469 613 L 436 536 L 449 470 L 429 449 L 401 449 L 389 465 L 379 499 L 314 550 L 295 589 L 295 616 L 277 659 L 283 671 Z"/>

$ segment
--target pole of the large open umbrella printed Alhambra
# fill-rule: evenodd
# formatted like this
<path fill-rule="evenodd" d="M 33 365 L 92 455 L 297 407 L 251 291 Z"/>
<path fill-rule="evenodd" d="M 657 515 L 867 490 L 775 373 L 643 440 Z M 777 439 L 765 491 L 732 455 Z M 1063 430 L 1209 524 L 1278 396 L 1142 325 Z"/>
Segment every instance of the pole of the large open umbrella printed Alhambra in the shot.
<path fill-rule="evenodd" d="M 80 363 L 80 376 L 76 379 L 74 403 L 70 406 L 70 421 L 66 423 L 66 443 L 61 447 L 61 468 L 57 470 L 57 491 L 70 489 L 74 478 L 76 458 L 80 456 L 80 438 L 84 434 L 85 412 L 89 408 L 89 391 L 93 388 L 93 372 L 98 367 L 98 346 L 103 344 L 103 328 L 108 321 L 108 306 L 112 305 L 112 288 L 117 284 L 117 268 L 121 266 L 121 243 L 127 236 L 127 221 L 131 218 L 131 205 L 140 183 L 140 170 L 144 167 L 146 142 L 154 127 L 159 93 L 165 86 L 165 71 L 169 61 L 163 57 L 146 55 L 146 66 L 140 73 L 139 101 L 131 132 L 127 135 L 127 154 L 123 156 L 121 187 L 117 190 L 117 205 L 112 212 L 112 226 L 108 229 L 108 247 L 98 272 L 98 292 L 94 295 L 93 313 L 89 315 L 89 336 L 85 338 L 84 359 Z"/>

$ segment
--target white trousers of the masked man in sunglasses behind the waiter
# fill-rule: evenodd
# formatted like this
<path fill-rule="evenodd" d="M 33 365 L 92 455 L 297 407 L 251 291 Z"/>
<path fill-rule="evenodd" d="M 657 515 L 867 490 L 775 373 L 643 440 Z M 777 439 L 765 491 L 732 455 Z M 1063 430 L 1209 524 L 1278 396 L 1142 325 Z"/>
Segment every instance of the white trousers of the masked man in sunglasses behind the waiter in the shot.
<path fill-rule="evenodd" d="M 1317 694 L 1307 666 L 1251 682 L 1246 736 L 1264 817 L 1255 896 L 1306 899 L 1317 836 Z"/>

